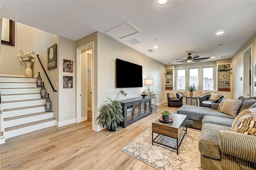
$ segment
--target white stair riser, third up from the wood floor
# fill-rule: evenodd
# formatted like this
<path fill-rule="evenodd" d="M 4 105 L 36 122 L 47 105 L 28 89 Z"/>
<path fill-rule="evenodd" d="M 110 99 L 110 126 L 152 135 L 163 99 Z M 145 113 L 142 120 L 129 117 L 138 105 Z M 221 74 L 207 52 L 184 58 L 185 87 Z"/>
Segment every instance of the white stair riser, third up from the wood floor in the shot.
<path fill-rule="evenodd" d="M 10 118 L 14 116 L 22 116 L 25 114 L 32 114 L 37 112 L 45 112 L 45 108 L 43 107 L 36 107 L 36 108 L 28 108 L 28 109 L 20 109 L 20 110 L 12 110 L 8 112 L 3 112 L 3 118 Z"/>

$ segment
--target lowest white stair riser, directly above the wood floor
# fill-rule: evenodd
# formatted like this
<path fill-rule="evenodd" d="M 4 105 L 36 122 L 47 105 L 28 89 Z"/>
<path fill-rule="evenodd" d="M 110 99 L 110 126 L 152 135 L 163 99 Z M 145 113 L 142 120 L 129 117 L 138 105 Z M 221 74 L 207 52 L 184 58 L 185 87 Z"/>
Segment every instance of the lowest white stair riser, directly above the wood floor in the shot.
<path fill-rule="evenodd" d="M 56 126 L 56 120 L 52 120 L 52 121 L 49 121 L 49 122 L 44 122 L 44 123 L 41 123 L 41 124 L 36 124 L 36 125 L 33 125 L 33 126 L 27 126 L 27 127 L 15 129 L 15 130 L 6 131 L 5 132 L 5 138 L 6 139 L 12 138 L 12 137 L 15 137 L 15 136 L 19 136 L 19 135 L 26 134 L 26 133 L 29 133 L 29 132 L 34 132 L 36 130 L 41 130 L 41 129 L 44 129 L 44 128 L 49 128 L 49 127 L 52 127 L 52 126 Z"/>

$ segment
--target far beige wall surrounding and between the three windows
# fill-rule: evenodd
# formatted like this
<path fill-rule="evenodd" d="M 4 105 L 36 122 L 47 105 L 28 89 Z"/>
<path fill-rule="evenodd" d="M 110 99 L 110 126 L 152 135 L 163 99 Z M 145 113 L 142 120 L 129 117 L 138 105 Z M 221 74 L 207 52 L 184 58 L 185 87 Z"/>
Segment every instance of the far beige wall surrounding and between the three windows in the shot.
<path fill-rule="evenodd" d="M 191 64 L 179 64 L 179 65 L 168 65 L 166 68 L 174 68 L 175 69 L 175 84 L 174 84 L 174 89 L 179 90 L 179 86 L 177 87 L 177 69 L 186 69 L 186 86 L 189 83 L 189 68 L 198 68 L 198 88 L 199 90 L 203 89 L 203 67 L 210 67 L 214 66 L 214 90 L 216 90 L 216 61 L 209 61 L 209 62 L 198 62 L 198 63 L 191 63 Z"/>

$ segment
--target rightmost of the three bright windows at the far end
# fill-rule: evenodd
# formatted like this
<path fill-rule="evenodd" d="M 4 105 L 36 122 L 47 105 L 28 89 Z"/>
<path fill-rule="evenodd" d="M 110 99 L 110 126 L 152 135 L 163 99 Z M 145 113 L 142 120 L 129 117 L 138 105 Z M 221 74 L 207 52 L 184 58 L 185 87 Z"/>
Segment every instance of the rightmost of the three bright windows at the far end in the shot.
<path fill-rule="evenodd" d="M 214 67 L 203 67 L 203 90 L 213 90 Z"/>

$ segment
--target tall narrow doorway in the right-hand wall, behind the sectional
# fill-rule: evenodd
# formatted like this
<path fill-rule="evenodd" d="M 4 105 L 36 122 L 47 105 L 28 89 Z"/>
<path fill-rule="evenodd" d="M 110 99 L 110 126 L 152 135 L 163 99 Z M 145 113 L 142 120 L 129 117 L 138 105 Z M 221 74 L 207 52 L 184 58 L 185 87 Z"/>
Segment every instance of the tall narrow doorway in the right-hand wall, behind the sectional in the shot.
<path fill-rule="evenodd" d="M 244 96 L 253 96 L 252 45 L 244 50 Z"/>

